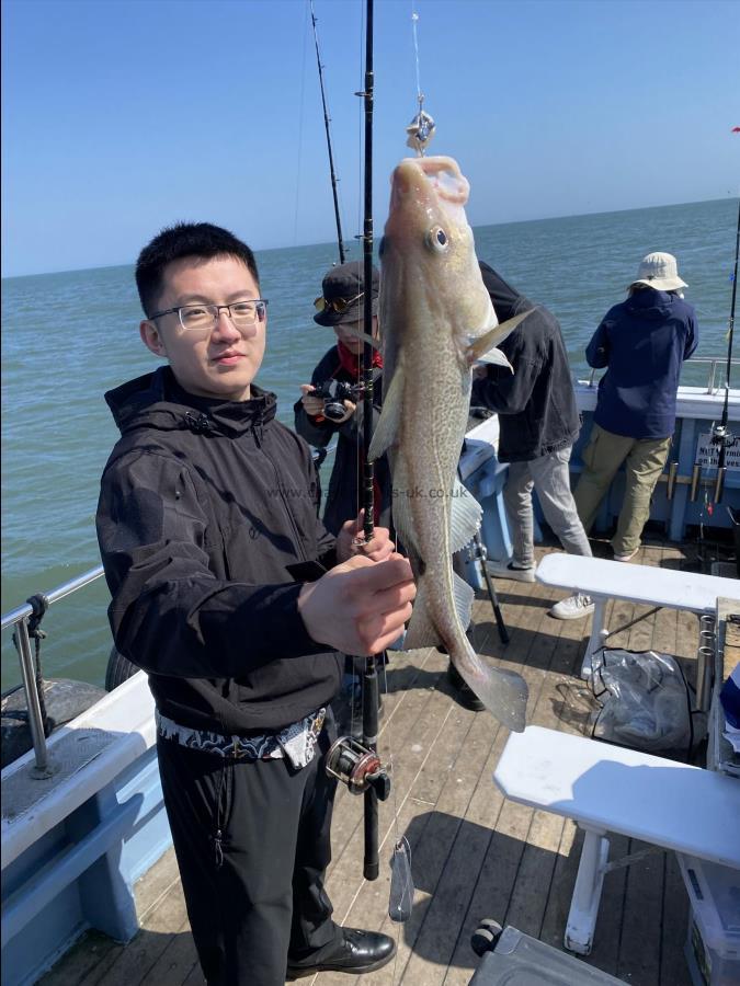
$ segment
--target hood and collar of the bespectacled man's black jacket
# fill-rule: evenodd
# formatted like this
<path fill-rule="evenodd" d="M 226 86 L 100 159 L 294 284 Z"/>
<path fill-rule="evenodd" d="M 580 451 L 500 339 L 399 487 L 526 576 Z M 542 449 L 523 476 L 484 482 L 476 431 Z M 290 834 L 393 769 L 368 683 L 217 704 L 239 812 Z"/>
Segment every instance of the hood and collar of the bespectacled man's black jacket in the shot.
<path fill-rule="evenodd" d="M 277 401 L 252 385 L 249 401 L 196 397 L 178 383 L 169 366 L 160 366 L 105 393 L 105 402 L 121 434 L 135 428 L 209 432 L 236 437 L 275 416 Z"/>

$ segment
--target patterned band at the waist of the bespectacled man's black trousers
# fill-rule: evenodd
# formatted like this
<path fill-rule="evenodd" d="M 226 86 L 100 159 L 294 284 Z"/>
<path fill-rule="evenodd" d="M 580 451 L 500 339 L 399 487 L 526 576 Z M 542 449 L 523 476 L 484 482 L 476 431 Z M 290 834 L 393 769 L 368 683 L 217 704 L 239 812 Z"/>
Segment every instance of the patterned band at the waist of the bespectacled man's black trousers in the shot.
<path fill-rule="evenodd" d="M 194 730 L 162 715 L 157 709 L 155 719 L 157 732 L 164 740 L 172 740 L 180 746 L 198 749 L 239 760 L 275 760 L 283 757 L 294 767 L 305 767 L 314 759 L 316 742 L 323 727 L 326 709 L 311 712 L 299 722 L 285 726 L 280 733 L 262 736 L 223 736 L 209 730 Z"/>

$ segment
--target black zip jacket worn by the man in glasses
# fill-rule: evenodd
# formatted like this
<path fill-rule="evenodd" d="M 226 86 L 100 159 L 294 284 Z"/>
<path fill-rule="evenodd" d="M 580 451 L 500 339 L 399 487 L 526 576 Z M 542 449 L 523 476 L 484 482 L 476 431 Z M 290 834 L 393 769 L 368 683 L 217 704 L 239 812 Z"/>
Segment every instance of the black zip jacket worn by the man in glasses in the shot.
<path fill-rule="evenodd" d="M 335 563 L 308 446 L 275 397 L 186 393 L 161 367 L 105 394 L 122 437 L 101 480 L 98 539 L 118 651 L 158 709 L 225 735 L 282 729 L 338 691 L 341 658 L 297 610 Z"/>

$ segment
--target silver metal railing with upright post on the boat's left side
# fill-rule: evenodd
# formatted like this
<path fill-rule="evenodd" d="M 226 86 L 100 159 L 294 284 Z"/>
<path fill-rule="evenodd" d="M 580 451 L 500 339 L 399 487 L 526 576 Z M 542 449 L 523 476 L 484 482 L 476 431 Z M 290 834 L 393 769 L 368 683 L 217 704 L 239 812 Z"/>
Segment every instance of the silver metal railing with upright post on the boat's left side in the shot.
<path fill-rule="evenodd" d="M 11 609 L 2 617 L 2 629 L 14 627 L 14 642 L 21 662 L 21 675 L 23 678 L 23 689 L 25 691 L 26 708 L 29 710 L 29 727 L 31 730 L 31 738 L 36 758 L 35 769 L 32 776 L 36 778 L 48 777 L 50 771 L 48 750 L 46 747 L 46 735 L 44 732 L 44 716 L 41 709 L 41 699 L 36 685 L 35 664 L 31 650 L 31 633 L 29 630 L 29 621 L 38 621 L 44 616 L 49 606 L 58 603 L 66 596 L 70 596 L 78 589 L 84 588 L 103 574 L 103 566 L 98 565 L 90 569 L 77 578 L 70 578 L 53 588 L 48 593 L 37 593 L 31 596 L 23 606 Z"/>

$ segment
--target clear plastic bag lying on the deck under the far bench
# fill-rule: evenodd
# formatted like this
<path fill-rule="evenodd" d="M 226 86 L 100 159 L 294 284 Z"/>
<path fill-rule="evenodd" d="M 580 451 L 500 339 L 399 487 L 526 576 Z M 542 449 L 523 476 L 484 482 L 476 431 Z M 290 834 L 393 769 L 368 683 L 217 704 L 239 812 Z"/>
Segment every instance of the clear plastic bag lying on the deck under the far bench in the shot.
<path fill-rule="evenodd" d="M 601 707 L 593 720 L 596 740 L 688 755 L 702 735 L 690 686 L 670 654 L 605 647 L 591 687 Z"/>

